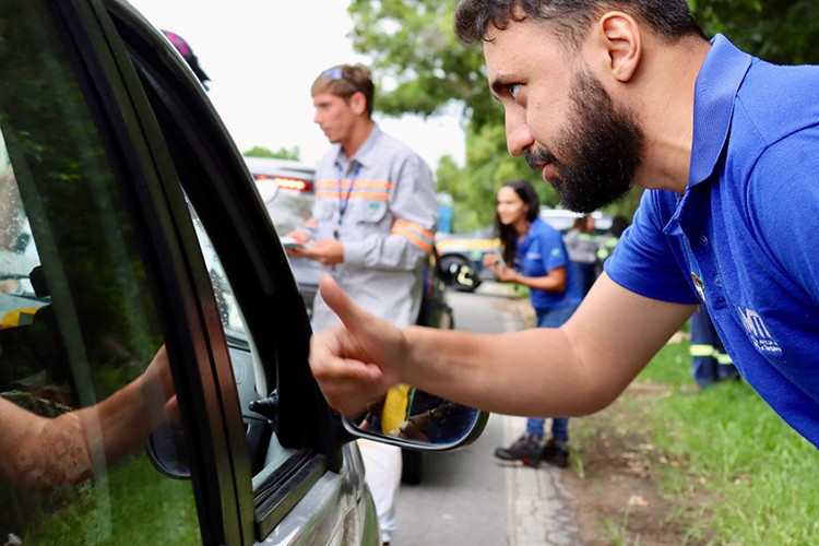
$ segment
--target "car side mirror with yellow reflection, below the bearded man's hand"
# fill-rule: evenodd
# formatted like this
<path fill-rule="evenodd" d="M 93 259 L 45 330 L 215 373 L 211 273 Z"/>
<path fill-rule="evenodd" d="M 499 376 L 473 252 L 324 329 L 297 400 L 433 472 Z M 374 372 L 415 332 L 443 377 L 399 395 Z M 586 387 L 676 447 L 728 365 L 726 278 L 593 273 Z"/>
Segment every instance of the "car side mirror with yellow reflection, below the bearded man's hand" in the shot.
<path fill-rule="evenodd" d="M 435 396 L 407 384 L 355 419 L 344 419 L 353 435 L 419 451 L 447 451 L 472 443 L 489 414 Z"/>

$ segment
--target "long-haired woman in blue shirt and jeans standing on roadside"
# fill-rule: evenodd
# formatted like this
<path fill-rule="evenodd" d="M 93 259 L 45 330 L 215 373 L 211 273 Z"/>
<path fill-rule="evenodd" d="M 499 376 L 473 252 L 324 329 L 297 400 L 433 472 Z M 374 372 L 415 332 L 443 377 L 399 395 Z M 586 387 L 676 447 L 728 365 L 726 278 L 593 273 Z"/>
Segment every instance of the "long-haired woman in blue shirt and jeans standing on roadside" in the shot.
<path fill-rule="evenodd" d="M 566 322 L 582 299 L 560 232 L 543 222 L 537 193 L 526 180 L 506 182 L 498 190 L 495 227 L 501 252 L 486 254 L 484 265 L 505 283 L 527 286 L 537 327 L 555 328 Z M 510 266 L 509 264 L 512 264 Z M 546 461 L 565 467 L 569 462 L 569 419 L 551 422 L 551 438 L 544 444 L 543 417 L 530 417 L 526 431 L 495 456 L 538 466 Z"/>

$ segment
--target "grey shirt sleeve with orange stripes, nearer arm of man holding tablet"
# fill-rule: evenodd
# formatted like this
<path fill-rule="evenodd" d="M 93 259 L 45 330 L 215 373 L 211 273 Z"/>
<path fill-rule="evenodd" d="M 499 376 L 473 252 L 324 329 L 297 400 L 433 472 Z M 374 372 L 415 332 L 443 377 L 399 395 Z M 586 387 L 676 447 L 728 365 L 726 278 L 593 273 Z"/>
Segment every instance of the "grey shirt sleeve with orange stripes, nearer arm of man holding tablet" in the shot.
<path fill-rule="evenodd" d="M 344 244 L 344 263 L 384 270 L 414 270 L 432 251 L 438 204 L 429 166 L 417 154 L 395 165 L 390 191 L 392 226 Z"/>

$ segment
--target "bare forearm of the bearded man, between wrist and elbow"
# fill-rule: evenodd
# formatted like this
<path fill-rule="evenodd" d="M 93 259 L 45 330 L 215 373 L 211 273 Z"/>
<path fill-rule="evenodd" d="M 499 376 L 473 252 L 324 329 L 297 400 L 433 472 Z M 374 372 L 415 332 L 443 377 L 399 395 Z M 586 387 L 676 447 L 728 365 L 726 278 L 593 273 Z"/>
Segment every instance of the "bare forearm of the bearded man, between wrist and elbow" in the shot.
<path fill-rule="evenodd" d="M 514 415 L 579 415 L 610 400 L 559 329 L 473 334 L 411 328 L 402 381 L 454 402 Z M 612 396 L 613 397 L 613 396 Z"/>

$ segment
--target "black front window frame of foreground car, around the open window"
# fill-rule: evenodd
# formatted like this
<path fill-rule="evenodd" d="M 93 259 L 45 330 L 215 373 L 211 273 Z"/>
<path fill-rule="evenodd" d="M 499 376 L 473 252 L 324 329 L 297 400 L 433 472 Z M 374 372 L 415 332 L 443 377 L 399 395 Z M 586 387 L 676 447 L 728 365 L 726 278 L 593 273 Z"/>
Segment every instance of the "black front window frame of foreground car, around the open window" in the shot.
<path fill-rule="evenodd" d="M 179 192 L 181 182 L 197 213 L 206 218 L 205 228 L 207 223 L 218 227 L 207 229 L 209 237 L 234 286 L 253 336 L 252 345 L 266 366 L 282 363 L 268 369 L 275 373 L 278 387 L 277 438 L 284 447 L 299 450 L 298 456 L 283 465 L 283 472 L 274 473 L 276 479 L 271 487 L 276 490 L 265 491 L 269 495 L 249 490 L 251 480 L 248 465 L 242 466 L 245 461 L 234 461 L 233 466 L 241 527 L 247 534 L 252 523 L 257 538 L 262 539 L 265 530 L 273 529 L 321 474 L 341 471 L 341 447 L 352 437 L 328 406 L 309 369 L 309 319 L 287 257 L 245 161 L 203 87 L 167 39 L 142 15 L 118 0 L 102 3 L 141 82 L 132 98 L 142 95 L 139 99 L 149 105 L 152 123 L 163 132 L 159 142 L 164 141 L 174 156 L 175 176 L 162 180 L 165 191 Z M 180 199 L 175 204 L 179 207 L 183 203 Z M 201 258 L 198 244 L 189 251 Z M 283 312 L 273 313 L 271 320 L 270 309 Z M 221 322 L 214 327 L 221 328 Z M 230 419 L 226 427 L 235 444 L 246 446 L 241 423 Z M 286 479 L 282 479 L 283 474 Z M 270 502 L 271 498 L 276 502 Z"/>

